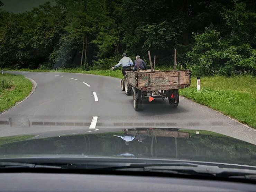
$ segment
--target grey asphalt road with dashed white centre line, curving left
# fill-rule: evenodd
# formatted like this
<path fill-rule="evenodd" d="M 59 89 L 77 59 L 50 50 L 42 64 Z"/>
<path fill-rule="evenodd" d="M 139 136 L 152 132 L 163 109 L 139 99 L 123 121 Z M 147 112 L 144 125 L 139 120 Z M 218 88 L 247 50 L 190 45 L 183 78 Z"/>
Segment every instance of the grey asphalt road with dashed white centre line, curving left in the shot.
<path fill-rule="evenodd" d="M 135 111 L 120 79 L 79 73 L 10 72 L 36 81 L 25 101 L 0 115 L 0 135 L 80 134 L 131 127 L 210 130 L 256 144 L 256 131 L 183 97 L 172 109 L 168 99 L 143 100 Z M 51 134 L 49 134 L 49 131 Z"/>

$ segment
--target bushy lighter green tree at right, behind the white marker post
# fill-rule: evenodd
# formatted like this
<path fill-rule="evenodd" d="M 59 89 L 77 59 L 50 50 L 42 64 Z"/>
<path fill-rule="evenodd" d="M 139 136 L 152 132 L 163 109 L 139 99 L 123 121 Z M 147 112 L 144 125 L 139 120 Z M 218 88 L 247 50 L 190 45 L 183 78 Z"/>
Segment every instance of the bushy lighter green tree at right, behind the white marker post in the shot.
<path fill-rule="evenodd" d="M 255 73 L 256 14 L 246 10 L 245 3 L 234 2 L 234 8 L 222 13 L 225 31 L 206 28 L 203 34 L 193 34 L 195 46 L 188 52 L 189 66 L 198 75 L 219 73 Z M 212 27 L 214 28 L 214 27 Z"/>

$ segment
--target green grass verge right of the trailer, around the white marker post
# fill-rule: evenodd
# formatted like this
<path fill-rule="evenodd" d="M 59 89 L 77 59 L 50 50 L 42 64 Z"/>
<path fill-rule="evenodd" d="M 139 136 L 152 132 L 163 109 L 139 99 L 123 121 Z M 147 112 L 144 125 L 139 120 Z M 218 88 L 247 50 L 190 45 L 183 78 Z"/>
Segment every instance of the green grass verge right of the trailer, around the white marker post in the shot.
<path fill-rule="evenodd" d="M 233 117 L 256 128 L 256 77 L 203 77 L 201 91 L 196 91 L 196 78 L 180 94 L 195 102 Z"/>

